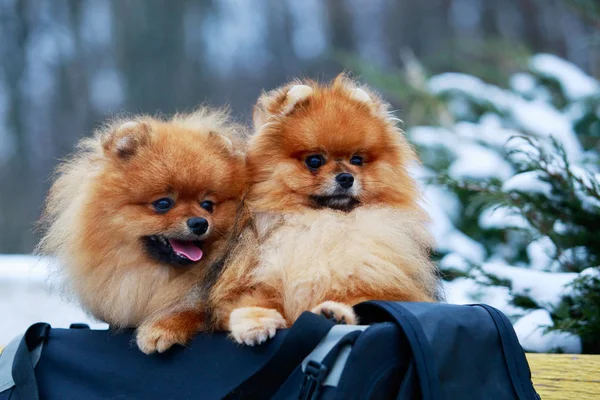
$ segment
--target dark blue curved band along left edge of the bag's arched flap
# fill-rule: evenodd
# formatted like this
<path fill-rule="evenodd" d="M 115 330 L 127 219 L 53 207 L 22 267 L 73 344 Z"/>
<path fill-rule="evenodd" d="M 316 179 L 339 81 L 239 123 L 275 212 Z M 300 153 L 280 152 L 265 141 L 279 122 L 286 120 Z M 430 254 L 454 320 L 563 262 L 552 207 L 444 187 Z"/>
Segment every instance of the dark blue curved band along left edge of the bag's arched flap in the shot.
<path fill-rule="evenodd" d="M 356 310 L 362 319 L 366 318 L 369 314 L 377 315 L 380 318 L 372 322 L 382 322 L 382 320 L 391 321 L 404 332 L 412 350 L 421 390 L 421 399 L 441 399 L 442 391 L 433 350 L 417 318 L 400 303 L 395 302 L 368 301 L 357 305 Z"/>

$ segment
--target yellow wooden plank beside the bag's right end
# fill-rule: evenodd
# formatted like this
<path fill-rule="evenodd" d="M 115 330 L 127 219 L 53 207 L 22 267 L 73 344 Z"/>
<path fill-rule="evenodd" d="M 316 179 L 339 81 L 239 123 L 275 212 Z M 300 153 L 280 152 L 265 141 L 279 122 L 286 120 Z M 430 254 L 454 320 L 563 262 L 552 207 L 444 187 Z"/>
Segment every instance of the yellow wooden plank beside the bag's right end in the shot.
<path fill-rule="evenodd" d="M 600 399 L 600 356 L 527 354 L 542 400 Z"/>

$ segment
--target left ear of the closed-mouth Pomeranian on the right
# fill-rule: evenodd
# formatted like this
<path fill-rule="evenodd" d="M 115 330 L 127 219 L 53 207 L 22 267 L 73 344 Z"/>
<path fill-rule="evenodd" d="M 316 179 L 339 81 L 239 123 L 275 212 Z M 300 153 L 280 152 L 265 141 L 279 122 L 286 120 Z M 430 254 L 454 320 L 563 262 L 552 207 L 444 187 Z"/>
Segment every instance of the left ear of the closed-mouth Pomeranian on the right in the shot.
<path fill-rule="evenodd" d="M 260 129 L 271 117 L 290 114 L 300 103 L 308 100 L 313 92 L 311 86 L 296 82 L 263 93 L 254 106 L 254 127 Z"/>

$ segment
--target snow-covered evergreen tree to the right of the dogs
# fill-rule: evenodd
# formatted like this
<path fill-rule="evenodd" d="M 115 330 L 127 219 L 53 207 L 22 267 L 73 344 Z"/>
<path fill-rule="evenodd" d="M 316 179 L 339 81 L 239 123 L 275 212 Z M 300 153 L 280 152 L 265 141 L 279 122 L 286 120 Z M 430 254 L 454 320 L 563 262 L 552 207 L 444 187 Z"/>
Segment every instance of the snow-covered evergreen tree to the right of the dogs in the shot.
<path fill-rule="evenodd" d="M 410 101 L 448 300 L 499 307 L 527 350 L 600 352 L 600 84 L 549 54 L 509 88 L 407 61 L 367 78 Z"/>

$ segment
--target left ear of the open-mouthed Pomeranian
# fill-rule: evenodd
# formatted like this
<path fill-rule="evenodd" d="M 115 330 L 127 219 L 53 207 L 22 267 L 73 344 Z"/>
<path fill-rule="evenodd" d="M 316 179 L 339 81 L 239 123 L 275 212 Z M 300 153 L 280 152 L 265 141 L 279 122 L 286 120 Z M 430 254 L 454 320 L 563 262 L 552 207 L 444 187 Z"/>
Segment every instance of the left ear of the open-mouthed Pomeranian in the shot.
<path fill-rule="evenodd" d="M 152 128 L 147 121 L 119 121 L 108 128 L 102 140 L 106 156 L 128 160 L 150 142 Z"/>

